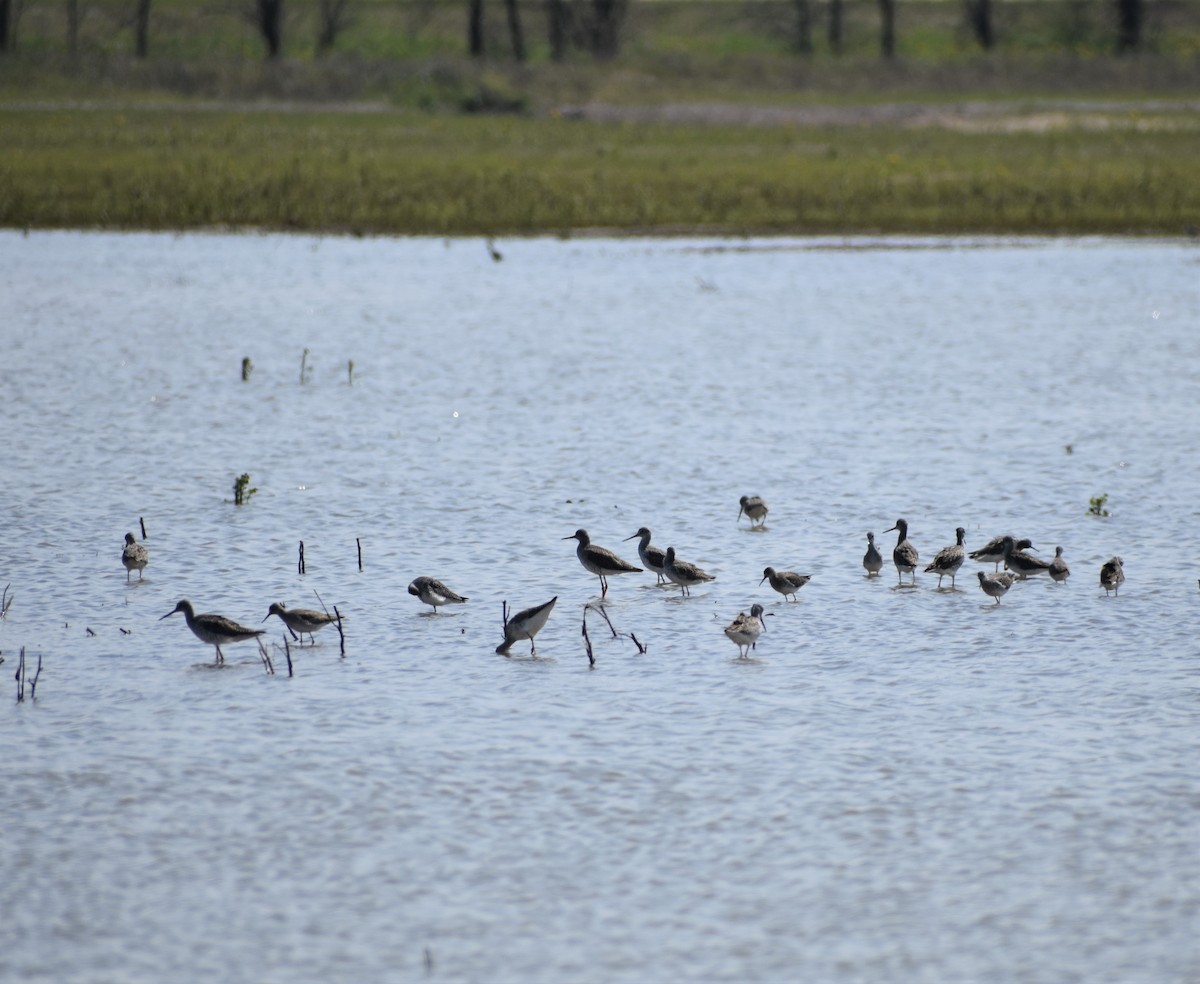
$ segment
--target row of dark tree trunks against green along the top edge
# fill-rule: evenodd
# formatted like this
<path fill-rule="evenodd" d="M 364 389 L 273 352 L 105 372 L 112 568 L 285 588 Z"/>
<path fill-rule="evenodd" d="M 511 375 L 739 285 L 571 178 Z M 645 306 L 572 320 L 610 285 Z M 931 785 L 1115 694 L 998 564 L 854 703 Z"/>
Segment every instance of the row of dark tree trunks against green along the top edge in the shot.
<path fill-rule="evenodd" d="M 0 0 L 0 53 L 138 58 L 1200 53 L 1200 0 Z"/>

